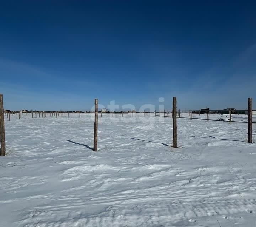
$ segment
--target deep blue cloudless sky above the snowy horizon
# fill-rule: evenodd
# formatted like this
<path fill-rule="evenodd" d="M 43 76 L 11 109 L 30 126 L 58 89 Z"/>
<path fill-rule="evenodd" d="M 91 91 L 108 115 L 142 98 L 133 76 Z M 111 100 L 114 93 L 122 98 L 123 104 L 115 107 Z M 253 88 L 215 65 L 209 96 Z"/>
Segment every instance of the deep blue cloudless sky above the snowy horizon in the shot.
<path fill-rule="evenodd" d="M 1 1 L 5 109 L 256 109 L 256 1 Z"/>

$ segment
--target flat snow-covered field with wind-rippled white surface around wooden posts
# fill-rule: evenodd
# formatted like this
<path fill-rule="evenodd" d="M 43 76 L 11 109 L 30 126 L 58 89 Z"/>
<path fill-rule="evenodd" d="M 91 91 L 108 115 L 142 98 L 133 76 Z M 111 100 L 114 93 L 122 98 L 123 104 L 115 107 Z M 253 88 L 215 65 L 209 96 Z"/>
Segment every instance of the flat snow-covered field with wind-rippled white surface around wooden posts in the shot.
<path fill-rule="evenodd" d="M 94 152 L 90 114 L 30 117 L 5 117 L 1 227 L 256 226 L 246 123 L 177 118 L 174 149 L 172 118 L 99 115 Z"/>

